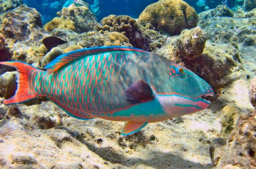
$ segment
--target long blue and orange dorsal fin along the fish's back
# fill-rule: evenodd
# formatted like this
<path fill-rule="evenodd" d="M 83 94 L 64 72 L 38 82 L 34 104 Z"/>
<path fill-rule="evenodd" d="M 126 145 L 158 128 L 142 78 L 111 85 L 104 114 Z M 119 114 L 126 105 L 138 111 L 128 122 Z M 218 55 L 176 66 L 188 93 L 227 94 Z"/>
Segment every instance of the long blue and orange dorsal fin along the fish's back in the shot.
<path fill-rule="evenodd" d="M 63 54 L 55 58 L 52 62 L 44 67 L 47 69 L 48 73 L 54 73 L 62 66 L 66 65 L 68 62 L 71 62 L 81 56 L 89 56 L 91 54 L 96 54 L 100 52 L 108 52 L 108 51 L 134 51 L 134 52 L 141 52 L 145 54 L 149 54 L 148 51 L 144 51 L 138 48 L 131 48 L 127 46 L 104 46 L 104 47 L 94 47 L 94 48 L 84 48 L 79 49 L 76 51 L 71 51 L 67 54 Z"/>

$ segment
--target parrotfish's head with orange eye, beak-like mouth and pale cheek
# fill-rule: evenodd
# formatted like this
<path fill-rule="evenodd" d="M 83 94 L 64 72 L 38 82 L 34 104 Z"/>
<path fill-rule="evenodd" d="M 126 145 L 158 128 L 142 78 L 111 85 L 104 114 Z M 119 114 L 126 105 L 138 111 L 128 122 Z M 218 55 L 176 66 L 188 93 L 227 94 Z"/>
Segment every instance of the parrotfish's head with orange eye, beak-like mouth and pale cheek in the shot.
<path fill-rule="evenodd" d="M 213 96 L 212 87 L 187 68 L 173 63 L 169 65 L 167 78 L 169 89 L 158 93 L 158 98 L 172 117 L 204 110 L 211 104 L 204 97 Z"/>

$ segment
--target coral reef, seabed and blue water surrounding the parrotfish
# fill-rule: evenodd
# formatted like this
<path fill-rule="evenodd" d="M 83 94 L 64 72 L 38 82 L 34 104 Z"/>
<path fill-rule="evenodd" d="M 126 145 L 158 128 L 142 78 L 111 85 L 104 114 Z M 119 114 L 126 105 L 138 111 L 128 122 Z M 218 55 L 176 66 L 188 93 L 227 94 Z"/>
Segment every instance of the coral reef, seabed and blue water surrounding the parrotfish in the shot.
<path fill-rule="evenodd" d="M 140 48 L 208 82 L 210 107 L 122 136 L 124 122 L 78 120 L 46 97 L 0 102 L 0 168 L 256 168 L 256 0 L 84 2 L 0 0 L 0 61 L 43 69 L 82 48 Z M 0 65 L 1 100 L 16 79 Z"/>

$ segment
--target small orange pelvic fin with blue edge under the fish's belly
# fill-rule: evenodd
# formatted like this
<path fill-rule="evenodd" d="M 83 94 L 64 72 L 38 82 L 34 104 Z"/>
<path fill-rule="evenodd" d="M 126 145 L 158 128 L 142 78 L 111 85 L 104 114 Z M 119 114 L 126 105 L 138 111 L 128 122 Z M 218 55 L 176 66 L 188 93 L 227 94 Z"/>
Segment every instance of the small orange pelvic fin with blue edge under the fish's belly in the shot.
<path fill-rule="evenodd" d="M 134 132 L 140 131 L 145 125 L 147 125 L 148 122 L 133 122 L 133 121 L 128 121 L 125 123 L 125 125 L 122 128 L 121 135 L 130 135 L 133 134 Z"/>

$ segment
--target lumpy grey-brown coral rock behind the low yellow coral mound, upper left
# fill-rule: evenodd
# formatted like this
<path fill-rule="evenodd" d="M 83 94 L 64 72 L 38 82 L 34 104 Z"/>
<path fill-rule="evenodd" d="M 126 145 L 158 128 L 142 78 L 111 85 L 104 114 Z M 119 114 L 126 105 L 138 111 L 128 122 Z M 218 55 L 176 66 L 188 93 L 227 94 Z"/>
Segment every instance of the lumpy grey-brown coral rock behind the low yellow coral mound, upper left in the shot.
<path fill-rule="evenodd" d="M 72 20 L 75 23 L 76 32 L 83 33 L 93 30 L 98 23 L 95 15 L 85 6 L 76 7 L 74 4 L 67 8 L 62 8 L 57 12 L 57 16 Z"/>

